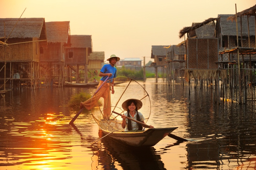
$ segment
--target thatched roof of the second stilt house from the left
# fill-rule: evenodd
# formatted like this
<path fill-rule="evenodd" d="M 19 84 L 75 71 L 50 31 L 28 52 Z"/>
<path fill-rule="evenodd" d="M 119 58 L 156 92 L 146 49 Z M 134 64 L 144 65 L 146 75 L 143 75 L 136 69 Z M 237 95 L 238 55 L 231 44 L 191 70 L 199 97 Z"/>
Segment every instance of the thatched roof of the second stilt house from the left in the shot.
<path fill-rule="evenodd" d="M 68 43 L 69 21 L 45 22 L 48 43 Z"/>

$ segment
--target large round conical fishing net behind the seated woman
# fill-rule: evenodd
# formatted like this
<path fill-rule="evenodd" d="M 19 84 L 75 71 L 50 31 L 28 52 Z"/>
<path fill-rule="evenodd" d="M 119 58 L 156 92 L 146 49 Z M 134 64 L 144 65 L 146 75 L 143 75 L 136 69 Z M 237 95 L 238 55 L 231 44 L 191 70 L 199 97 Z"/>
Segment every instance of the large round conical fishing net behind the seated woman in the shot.
<path fill-rule="evenodd" d="M 113 81 L 115 93 L 111 94 Z M 126 111 L 122 108 L 122 104 L 127 99 L 138 99 L 142 102 L 142 107 L 138 111 L 143 114 L 146 123 L 151 112 L 148 93 L 137 81 L 125 77 L 107 80 L 97 88 L 91 99 L 94 120 L 105 130 L 124 131 L 121 126 L 123 119 L 112 111 L 124 114 Z"/>

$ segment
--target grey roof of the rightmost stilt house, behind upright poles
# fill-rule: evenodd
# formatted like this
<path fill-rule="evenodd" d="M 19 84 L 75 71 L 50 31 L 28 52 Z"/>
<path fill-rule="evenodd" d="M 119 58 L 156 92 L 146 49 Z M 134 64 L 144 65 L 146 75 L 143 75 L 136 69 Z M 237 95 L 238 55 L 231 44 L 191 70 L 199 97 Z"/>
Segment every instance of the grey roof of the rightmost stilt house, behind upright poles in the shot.
<path fill-rule="evenodd" d="M 221 29 L 222 36 L 223 35 L 231 35 L 236 36 L 236 22 L 232 22 L 231 20 L 227 20 L 228 17 L 232 15 L 228 14 L 220 14 L 219 15 L 219 23 L 220 26 L 217 28 Z M 237 18 L 237 29 L 238 29 L 238 35 L 241 34 L 241 27 L 240 27 L 240 17 Z M 254 25 L 254 17 L 249 17 L 249 29 L 250 29 L 250 35 L 255 35 L 255 25 Z M 247 18 L 242 17 L 242 34 L 243 36 L 248 36 L 248 27 L 247 27 Z"/>

